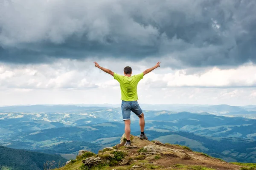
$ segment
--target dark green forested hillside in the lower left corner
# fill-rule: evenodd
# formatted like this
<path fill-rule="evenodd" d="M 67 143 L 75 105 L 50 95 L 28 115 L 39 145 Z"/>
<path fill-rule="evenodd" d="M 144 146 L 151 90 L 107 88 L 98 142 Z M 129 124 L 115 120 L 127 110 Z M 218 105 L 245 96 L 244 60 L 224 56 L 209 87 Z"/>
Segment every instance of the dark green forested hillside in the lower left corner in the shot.
<path fill-rule="evenodd" d="M 0 170 L 44 170 L 62 167 L 66 161 L 59 155 L 0 146 Z"/>

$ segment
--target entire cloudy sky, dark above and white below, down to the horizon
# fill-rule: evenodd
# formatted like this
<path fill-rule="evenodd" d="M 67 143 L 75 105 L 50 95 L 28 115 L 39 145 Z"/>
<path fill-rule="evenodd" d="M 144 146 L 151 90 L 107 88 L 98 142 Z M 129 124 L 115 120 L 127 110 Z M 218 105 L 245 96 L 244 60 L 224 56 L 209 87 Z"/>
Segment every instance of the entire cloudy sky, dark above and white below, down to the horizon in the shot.
<path fill-rule="evenodd" d="M 256 104 L 255 0 L 0 0 L 0 105 Z"/>

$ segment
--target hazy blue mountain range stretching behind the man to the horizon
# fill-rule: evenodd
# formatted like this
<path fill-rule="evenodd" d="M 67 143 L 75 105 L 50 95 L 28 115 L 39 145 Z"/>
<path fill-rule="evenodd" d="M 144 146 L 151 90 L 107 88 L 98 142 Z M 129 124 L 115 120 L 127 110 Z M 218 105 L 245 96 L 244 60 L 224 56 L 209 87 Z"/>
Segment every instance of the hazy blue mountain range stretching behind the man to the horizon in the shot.
<path fill-rule="evenodd" d="M 246 111 L 253 106 L 190 108 L 205 110 L 194 113 L 144 110 L 149 139 L 187 145 L 227 161 L 256 162 L 256 119 L 235 117 L 255 114 Z M 207 110 L 221 111 L 218 114 L 225 116 L 209 114 Z M 131 120 L 132 133 L 139 134 L 134 114 Z M 123 133 L 120 108 L 68 105 L 0 108 L 0 145 L 11 148 L 51 154 L 77 154 L 81 149 L 97 153 L 103 147 L 117 144 Z"/>

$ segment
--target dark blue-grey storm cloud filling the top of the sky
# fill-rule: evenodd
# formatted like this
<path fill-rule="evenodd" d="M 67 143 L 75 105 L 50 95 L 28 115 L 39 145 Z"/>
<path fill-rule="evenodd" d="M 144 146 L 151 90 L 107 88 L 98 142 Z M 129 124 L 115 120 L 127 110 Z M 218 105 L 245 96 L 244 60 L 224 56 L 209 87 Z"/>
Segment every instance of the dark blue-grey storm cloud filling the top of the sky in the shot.
<path fill-rule="evenodd" d="M 26 2 L 6 2 L 0 11 L 2 62 L 93 56 L 165 57 L 172 67 L 173 60 L 176 67 L 256 62 L 254 0 Z"/>

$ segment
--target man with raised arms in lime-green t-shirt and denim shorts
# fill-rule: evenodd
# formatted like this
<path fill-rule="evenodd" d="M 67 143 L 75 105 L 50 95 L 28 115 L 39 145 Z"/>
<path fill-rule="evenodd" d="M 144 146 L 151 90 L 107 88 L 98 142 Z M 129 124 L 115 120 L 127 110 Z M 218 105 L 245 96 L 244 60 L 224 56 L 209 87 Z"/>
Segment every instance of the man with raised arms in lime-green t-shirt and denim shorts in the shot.
<path fill-rule="evenodd" d="M 131 141 L 130 141 L 131 111 L 134 112 L 140 118 L 140 121 L 139 121 L 140 122 L 140 139 L 148 139 L 144 133 L 144 127 L 145 127 L 144 113 L 137 102 L 138 100 L 137 85 L 139 81 L 143 79 L 143 76 L 145 76 L 145 74 L 148 74 L 154 69 L 156 69 L 157 67 L 160 67 L 160 62 L 157 62 L 157 64 L 154 67 L 148 68 L 142 73 L 134 76 L 131 76 L 132 74 L 131 67 L 125 67 L 124 76 L 122 76 L 114 73 L 113 71 L 107 68 L 103 68 L 99 66 L 97 62 L 93 62 L 93 63 L 95 64 L 95 67 L 110 74 L 111 76 L 114 77 L 114 79 L 116 79 L 120 83 L 121 99 L 122 99 L 122 105 L 121 105 L 122 116 L 123 116 L 123 120 L 125 121 L 125 136 L 127 139 L 125 146 L 131 145 Z"/>

